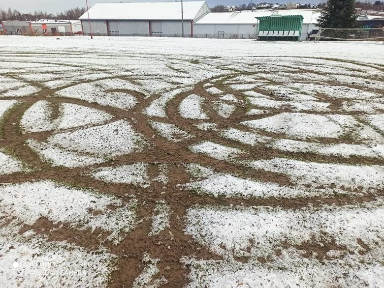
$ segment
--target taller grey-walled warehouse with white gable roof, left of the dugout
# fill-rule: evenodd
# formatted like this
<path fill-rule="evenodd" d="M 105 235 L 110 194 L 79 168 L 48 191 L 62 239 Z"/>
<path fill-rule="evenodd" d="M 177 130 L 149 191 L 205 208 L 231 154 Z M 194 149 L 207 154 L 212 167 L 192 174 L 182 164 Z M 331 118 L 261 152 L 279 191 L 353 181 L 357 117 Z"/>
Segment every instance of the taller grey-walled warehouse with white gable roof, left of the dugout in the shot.
<path fill-rule="evenodd" d="M 183 1 L 184 36 L 193 37 L 194 23 L 211 12 L 205 1 Z M 181 2 L 97 3 L 89 9 L 94 35 L 168 36 L 182 35 Z M 90 34 L 88 13 L 79 20 Z"/>

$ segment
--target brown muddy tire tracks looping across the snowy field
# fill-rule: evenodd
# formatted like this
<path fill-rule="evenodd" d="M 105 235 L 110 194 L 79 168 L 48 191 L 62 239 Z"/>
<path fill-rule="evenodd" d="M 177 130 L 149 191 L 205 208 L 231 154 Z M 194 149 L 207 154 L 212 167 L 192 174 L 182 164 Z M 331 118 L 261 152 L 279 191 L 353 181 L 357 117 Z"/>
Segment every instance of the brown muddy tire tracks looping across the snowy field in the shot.
<path fill-rule="evenodd" d="M 312 70 L 308 70 L 312 71 Z M 312 71 L 313 72 L 313 71 Z M 243 73 L 244 74 L 244 73 Z M 234 77 L 238 74 L 231 74 L 228 77 Z M 219 77 L 219 76 L 218 76 Z M 218 78 L 214 77 L 214 78 Z M 107 79 L 122 79 L 122 77 L 114 77 Z M 100 79 L 98 79 L 100 80 Z M 128 79 L 127 79 L 128 80 Z M 201 154 L 193 153 L 188 147 L 191 144 L 196 144 L 204 140 L 213 141 L 223 144 L 225 146 L 231 146 L 241 148 L 249 152 L 249 159 L 266 159 L 273 157 L 286 157 L 293 159 L 300 159 L 304 161 L 318 161 L 329 163 L 344 163 L 353 164 L 356 161 L 364 164 L 380 164 L 381 161 L 377 159 L 358 158 L 358 159 L 346 159 L 341 157 L 332 156 L 320 156 L 310 153 L 288 153 L 272 150 L 265 145 L 257 145 L 251 147 L 245 144 L 240 144 L 231 140 L 212 133 L 212 131 L 202 131 L 194 127 L 192 124 L 196 123 L 195 120 L 189 120 L 182 118 L 178 113 L 178 107 L 180 102 L 188 95 L 196 93 L 206 97 L 210 101 L 217 100 L 216 96 L 213 96 L 205 91 L 203 85 L 208 83 L 211 79 L 207 79 L 194 86 L 191 91 L 181 93 L 171 99 L 166 105 L 166 113 L 168 118 L 148 117 L 143 114 L 143 110 L 148 107 L 151 102 L 158 96 L 158 94 L 151 95 L 149 97 L 143 97 L 142 94 L 134 93 L 129 90 L 121 90 L 127 92 L 138 98 L 139 103 L 131 110 L 124 111 L 118 108 L 110 106 L 102 106 L 97 103 L 90 103 L 74 98 L 65 98 L 54 96 L 55 92 L 69 86 L 78 85 L 81 83 L 92 83 L 94 81 L 77 82 L 73 85 L 68 85 L 60 88 L 49 89 L 40 86 L 42 89 L 35 96 L 29 97 L 4 97 L 0 99 L 18 99 L 23 103 L 17 107 L 17 109 L 7 117 L 4 121 L 4 139 L 0 142 L 1 146 L 6 146 L 11 149 L 20 159 L 27 164 L 36 168 L 36 171 L 31 173 L 13 173 L 9 175 L 0 175 L 1 183 L 20 183 L 24 181 L 31 181 L 34 179 L 52 179 L 64 183 L 72 183 L 80 187 L 91 187 L 98 191 L 102 191 L 108 194 L 119 196 L 123 201 L 127 201 L 127 195 L 134 195 L 140 203 L 140 208 L 137 212 L 137 218 L 141 219 L 138 226 L 130 231 L 128 235 L 118 245 L 106 243 L 105 238 L 108 236 L 101 230 L 82 230 L 81 232 L 73 228 L 69 228 L 65 223 L 61 228 L 58 228 L 59 224 L 54 224 L 51 221 L 40 218 L 31 227 L 25 227 L 25 230 L 33 229 L 36 233 L 48 235 L 48 241 L 62 241 L 66 240 L 70 243 L 86 247 L 88 249 L 97 249 L 100 245 L 103 245 L 109 249 L 109 251 L 117 256 L 119 260 L 117 263 L 118 270 L 112 272 L 109 286 L 122 287 L 131 285 L 134 279 L 143 271 L 142 258 L 144 253 L 149 253 L 151 258 L 159 258 L 161 262 L 158 264 L 160 268 L 160 274 L 158 277 L 165 276 L 169 281 L 164 287 L 181 287 L 188 283 L 186 274 L 189 273 L 188 267 L 184 267 L 180 263 L 182 256 L 194 255 L 198 259 L 221 259 L 219 256 L 213 254 L 206 248 L 196 243 L 192 236 L 186 235 L 184 230 L 184 217 L 186 210 L 194 205 L 241 205 L 244 207 L 251 206 L 272 206 L 283 208 L 300 208 L 306 207 L 309 204 L 313 206 L 321 206 L 322 204 L 336 204 L 345 205 L 355 202 L 370 202 L 374 201 L 378 195 L 383 193 L 365 194 L 363 196 L 338 196 L 336 197 L 312 197 L 312 198 L 297 198 L 297 199 L 244 199 L 244 198 L 225 198 L 225 197 L 210 197 L 197 195 L 193 192 L 185 191 L 177 188 L 177 184 L 184 184 L 190 181 L 190 176 L 186 173 L 183 164 L 186 163 L 198 163 L 203 166 L 213 167 L 220 173 L 236 173 L 240 176 L 247 178 L 257 179 L 261 181 L 274 182 L 281 185 L 292 185 L 287 176 L 283 174 L 256 171 L 248 169 L 240 164 L 224 162 L 216 160 Z M 225 80 L 225 79 L 224 79 Z M 224 82 L 221 81 L 221 82 Z M 230 89 L 220 85 L 225 93 L 235 95 L 237 98 L 244 99 L 244 96 L 240 91 Z M 276 83 L 276 85 L 282 85 Z M 340 84 L 339 84 L 340 85 Z M 216 85 L 215 85 L 216 86 Z M 360 87 L 361 88 L 361 87 Z M 120 91 L 120 90 L 119 90 Z M 48 97 L 49 96 L 49 97 Z M 139 97 L 140 96 L 140 97 Z M 111 121 L 118 119 L 128 119 L 128 122 L 132 125 L 135 131 L 143 134 L 145 139 L 149 142 L 149 147 L 141 153 L 131 153 L 127 155 L 117 156 L 113 160 L 109 160 L 102 164 L 92 165 L 85 168 L 52 168 L 48 164 L 42 162 L 38 156 L 25 145 L 24 142 L 28 138 L 37 139 L 39 141 L 46 140 L 53 135 L 55 131 L 38 132 L 22 134 L 19 127 L 20 119 L 25 111 L 39 100 L 47 100 L 52 103 L 58 104 L 61 102 L 73 103 L 83 105 L 90 108 L 95 108 L 100 111 L 107 112 L 114 116 Z M 247 119 L 245 117 L 246 107 L 245 105 L 236 105 L 236 111 L 228 118 L 223 118 L 217 115 L 211 106 L 205 105 L 204 111 L 210 117 L 209 121 L 218 123 L 218 129 L 237 128 L 242 131 L 252 131 L 246 126 L 239 124 L 240 120 Z M 333 108 L 338 108 L 338 104 L 335 104 Z M 281 112 L 288 112 L 287 109 L 273 109 L 274 114 Z M 333 111 L 332 111 L 333 112 Z M 274 115 L 272 114 L 272 115 Z M 265 116 L 270 116 L 265 115 Z M 352 114 L 346 114 L 352 115 Z M 264 116 L 260 116 L 264 117 Z M 159 136 L 155 129 L 153 129 L 148 120 L 157 120 L 160 122 L 168 122 L 177 125 L 183 130 L 192 133 L 195 138 L 189 141 L 181 143 L 172 143 Z M 16 124 L 15 124 L 16 123 Z M 153 137 L 155 136 L 155 137 Z M 276 138 L 281 135 L 274 135 Z M 336 140 L 337 141 L 337 140 Z M 326 142 L 326 141 L 325 141 Z M 332 143 L 332 142 L 330 142 Z M 91 169 L 99 167 L 117 167 L 123 164 L 131 164 L 136 162 L 150 163 L 150 174 L 156 174 L 158 169 L 156 165 L 159 163 L 169 164 L 168 178 L 169 182 L 166 185 L 154 182 L 149 188 L 134 187 L 128 184 L 111 184 L 105 183 L 87 175 Z M 162 194 L 165 192 L 164 194 Z M 156 201 L 164 200 L 171 207 L 170 216 L 170 228 L 160 232 L 157 236 L 148 236 L 151 226 L 152 211 Z M 22 233 L 25 230 L 21 230 Z M 100 236 L 101 235 L 101 236 Z M 96 238 L 96 239 L 95 239 Z M 103 240 L 104 239 L 104 240 Z M 302 245 L 300 247 L 303 250 L 313 249 Z M 308 246 L 308 245 L 307 245 Z"/>

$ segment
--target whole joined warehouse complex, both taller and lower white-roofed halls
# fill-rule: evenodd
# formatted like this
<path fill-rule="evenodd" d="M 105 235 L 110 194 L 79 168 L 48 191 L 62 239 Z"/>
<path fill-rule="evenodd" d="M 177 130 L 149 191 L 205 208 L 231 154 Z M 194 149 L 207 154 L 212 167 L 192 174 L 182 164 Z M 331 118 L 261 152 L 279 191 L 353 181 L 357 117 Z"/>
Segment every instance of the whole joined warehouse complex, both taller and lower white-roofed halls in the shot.
<path fill-rule="evenodd" d="M 183 1 L 185 37 L 252 38 L 258 35 L 263 16 L 302 15 L 298 39 L 307 39 L 316 27 L 320 12 L 315 9 L 257 10 L 212 13 L 205 1 Z M 181 2 L 98 3 L 89 9 L 94 35 L 181 37 Z M 90 34 L 88 14 L 81 20 L 84 34 Z M 296 32 L 297 33 L 297 32 Z"/>

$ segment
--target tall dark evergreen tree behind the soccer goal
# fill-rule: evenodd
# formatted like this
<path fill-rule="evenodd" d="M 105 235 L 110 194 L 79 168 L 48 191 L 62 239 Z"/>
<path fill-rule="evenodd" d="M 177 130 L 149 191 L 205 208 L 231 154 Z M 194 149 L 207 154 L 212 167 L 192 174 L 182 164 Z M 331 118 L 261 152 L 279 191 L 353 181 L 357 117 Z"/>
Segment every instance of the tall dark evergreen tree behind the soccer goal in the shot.
<path fill-rule="evenodd" d="M 317 26 L 320 28 L 355 28 L 354 0 L 327 0 Z"/>

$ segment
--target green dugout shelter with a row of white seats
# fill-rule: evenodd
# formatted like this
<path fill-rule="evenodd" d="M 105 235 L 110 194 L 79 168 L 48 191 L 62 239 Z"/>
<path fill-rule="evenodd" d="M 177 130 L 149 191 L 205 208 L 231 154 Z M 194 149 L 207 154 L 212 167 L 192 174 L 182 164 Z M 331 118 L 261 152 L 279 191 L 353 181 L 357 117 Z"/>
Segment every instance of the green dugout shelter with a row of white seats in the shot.
<path fill-rule="evenodd" d="M 255 17 L 259 20 L 258 39 L 269 41 L 298 41 L 303 24 L 302 15 L 273 15 Z"/>

